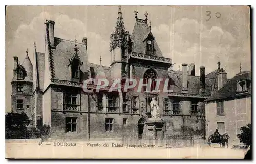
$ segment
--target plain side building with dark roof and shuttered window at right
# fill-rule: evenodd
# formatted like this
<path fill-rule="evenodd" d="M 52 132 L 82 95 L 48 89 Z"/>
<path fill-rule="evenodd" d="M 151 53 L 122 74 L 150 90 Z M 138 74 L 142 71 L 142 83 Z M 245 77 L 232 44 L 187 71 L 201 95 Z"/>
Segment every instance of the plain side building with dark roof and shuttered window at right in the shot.
<path fill-rule="evenodd" d="M 240 128 L 251 123 L 251 73 L 240 71 L 230 80 L 226 76 L 219 69 L 218 91 L 205 100 L 206 136 L 218 129 L 221 135 L 230 136 L 230 144 L 239 144 Z"/>

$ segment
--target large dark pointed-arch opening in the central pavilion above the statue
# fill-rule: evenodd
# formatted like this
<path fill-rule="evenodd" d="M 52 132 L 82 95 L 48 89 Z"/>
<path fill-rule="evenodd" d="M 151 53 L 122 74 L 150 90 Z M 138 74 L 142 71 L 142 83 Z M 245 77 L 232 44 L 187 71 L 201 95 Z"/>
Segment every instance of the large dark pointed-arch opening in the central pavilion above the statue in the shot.
<path fill-rule="evenodd" d="M 152 92 L 153 90 L 155 90 L 156 87 L 156 81 L 155 79 L 157 78 L 157 73 L 155 72 L 154 69 L 148 69 L 145 74 L 144 74 L 144 79 L 143 79 L 143 84 L 148 84 L 150 85 L 151 82 L 151 86 L 150 86 L 150 90 L 147 91 L 147 86 L 144 87 L 144 92 Z"/>

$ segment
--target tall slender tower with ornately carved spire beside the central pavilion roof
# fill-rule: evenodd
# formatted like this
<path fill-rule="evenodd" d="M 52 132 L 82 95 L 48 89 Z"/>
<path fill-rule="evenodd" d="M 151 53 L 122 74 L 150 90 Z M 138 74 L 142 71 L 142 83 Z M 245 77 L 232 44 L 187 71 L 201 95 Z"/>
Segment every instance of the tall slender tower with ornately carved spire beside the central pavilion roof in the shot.
<path fill-rule="evenodd" d="M 128 77 L 128 54 L 131 52 L 131 39 L 125 30 L 121 6 L 118 7 L 118 17 L 115 31 L 110 36 L 111 77 L 126 79 Z"/>

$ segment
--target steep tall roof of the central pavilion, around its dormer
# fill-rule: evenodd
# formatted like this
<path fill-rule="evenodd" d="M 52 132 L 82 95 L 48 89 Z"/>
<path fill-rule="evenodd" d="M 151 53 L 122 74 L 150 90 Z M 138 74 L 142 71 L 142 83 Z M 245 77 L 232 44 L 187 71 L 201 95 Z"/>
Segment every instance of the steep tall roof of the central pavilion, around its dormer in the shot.
<path fill-rule="evenodd" d="M 146 53 L 146 48 L 145 48 L 146 43 L 143 41 L 150 34 L 150 32 L 151 32 L 151 30 L 150 30 L 150 27 L 148 26 L 147 22 L 145 20 L 136 18 L 133 33 L 131 35 L 131 40 L 133 42 L 133 45 L 132 45 L 133 52 L 143 53 L 143 54 Z M 162 54 L 160 48 L 158 47 L 156 40 L 154 41 L 154 48 L 156 50 L 154 52 L 154 55 L 163 57 L 163 54 Z"/>

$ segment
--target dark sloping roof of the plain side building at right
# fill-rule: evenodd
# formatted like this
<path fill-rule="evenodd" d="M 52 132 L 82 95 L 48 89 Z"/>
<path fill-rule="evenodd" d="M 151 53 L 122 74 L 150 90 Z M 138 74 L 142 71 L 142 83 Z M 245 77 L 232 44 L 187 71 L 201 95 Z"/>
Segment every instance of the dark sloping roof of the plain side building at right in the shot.
<path fill-rule="evenodd" d="M 248 92 L 237 94 L 237 83 L 241 80 L 251 80 L 251 73 L 241 73 L 234 76 L 232 79 L 228 80 L 228 82 L 217 92 L 212 94 L 205 101 L 214 101 L 226 98 L 236 98 L 245 95 L 251 95 L 251 88 L 249 88 Z"/>

